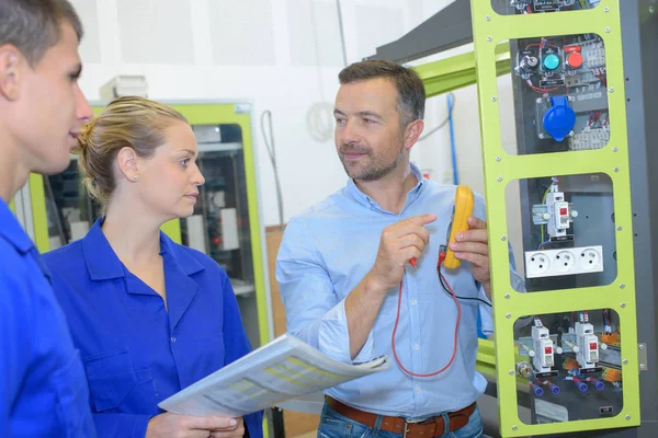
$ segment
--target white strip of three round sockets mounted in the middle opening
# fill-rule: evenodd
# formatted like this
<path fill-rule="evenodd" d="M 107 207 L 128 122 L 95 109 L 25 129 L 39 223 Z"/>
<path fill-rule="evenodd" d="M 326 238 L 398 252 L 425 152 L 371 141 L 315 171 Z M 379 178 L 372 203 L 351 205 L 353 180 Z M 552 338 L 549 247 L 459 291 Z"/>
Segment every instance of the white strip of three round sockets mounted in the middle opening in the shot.
<path fill-rule="evenodd" d="M 600 273 L 603 270 L 603 246 L 565 247 L 525 252 L 525 277 L 556 277 Z"/>

